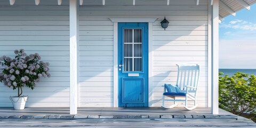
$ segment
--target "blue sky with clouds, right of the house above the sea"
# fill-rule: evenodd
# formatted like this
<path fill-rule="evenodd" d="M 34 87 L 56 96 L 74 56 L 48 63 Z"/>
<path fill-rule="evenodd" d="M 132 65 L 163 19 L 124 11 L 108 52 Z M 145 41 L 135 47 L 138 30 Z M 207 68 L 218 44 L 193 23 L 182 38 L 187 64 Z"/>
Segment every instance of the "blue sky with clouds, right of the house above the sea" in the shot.
<path fill-rule="evenodd" d="M 219 24 L 219 68 L 256 69 L 256 4 Z"/>

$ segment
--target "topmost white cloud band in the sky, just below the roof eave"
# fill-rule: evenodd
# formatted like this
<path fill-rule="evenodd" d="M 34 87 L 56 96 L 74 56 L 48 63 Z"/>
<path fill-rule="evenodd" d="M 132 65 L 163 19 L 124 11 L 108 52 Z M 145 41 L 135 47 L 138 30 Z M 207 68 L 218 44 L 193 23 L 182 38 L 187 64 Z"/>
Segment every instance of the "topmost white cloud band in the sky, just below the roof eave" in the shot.
<path fill-rule="evenodd" d="M 245 20 L 233 20 L 230 21 L 229 23 L 221 23 L 220 28 L 233 28 L 233 29 L 242 29 L 242 30 L 251 30 L 255 31 L 256 30 L 256 23 L 252 22 L 247 22 Z"/>

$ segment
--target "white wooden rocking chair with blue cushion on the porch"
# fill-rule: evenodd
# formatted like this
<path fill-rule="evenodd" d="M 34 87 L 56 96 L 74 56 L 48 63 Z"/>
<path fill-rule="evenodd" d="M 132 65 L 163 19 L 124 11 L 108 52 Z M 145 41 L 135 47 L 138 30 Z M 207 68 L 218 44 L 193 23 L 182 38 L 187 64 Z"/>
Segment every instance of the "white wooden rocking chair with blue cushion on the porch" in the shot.
<path fill-rule="evenodd" d="M 163 93 L 163 105 L 164 108 L 173 108 L 178 105 L 177 101 L 185 101 L 185 107 L 188 110 L 193 110 L 197 107 L 196 104 L 196 93 L 197 85 L 200 76 L 200 67 L 196 66 L 178 66 L 178 76 L 176 86 L 171 84 L 165 84 Z M 167 90 L 167 92 L 166 92 Z M 172 99 L 165 99 L 165 97 L 170 97 Z M 184 99 L 176 99 L 183 97 Z M 188 98 L 194 100 L 194 106 L 188 107 Z M 165 106 L 165 101 L 173 101 L 174 105 Z"/>

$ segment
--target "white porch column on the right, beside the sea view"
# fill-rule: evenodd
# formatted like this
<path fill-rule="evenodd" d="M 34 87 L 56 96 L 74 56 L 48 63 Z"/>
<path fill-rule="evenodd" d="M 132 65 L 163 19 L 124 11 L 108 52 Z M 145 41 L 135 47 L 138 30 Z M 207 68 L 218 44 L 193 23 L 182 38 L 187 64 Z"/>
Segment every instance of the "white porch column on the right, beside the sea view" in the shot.
<path fill-rule="evenodd" d="M 212 6 L 212 114 L 219 114 L 219 0 Z"/>

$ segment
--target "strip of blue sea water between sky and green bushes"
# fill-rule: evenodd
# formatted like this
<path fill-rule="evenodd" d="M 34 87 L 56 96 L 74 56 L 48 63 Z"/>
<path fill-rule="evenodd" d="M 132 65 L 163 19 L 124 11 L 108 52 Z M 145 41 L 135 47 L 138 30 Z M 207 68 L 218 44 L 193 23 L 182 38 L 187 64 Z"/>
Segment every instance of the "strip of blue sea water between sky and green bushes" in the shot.
<path fill-rule="evenodd" d="M 220 72 L 223 73 L 223 75 L 228 75 L 228 76 L 233 76 L 235 73 L 240 72 L 240 73 L 245 73 L 250 75 L 255 75 L 256 76 L 256 69 L 219 69 Z"/>

